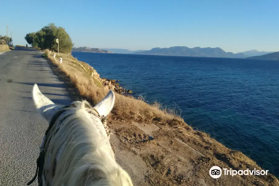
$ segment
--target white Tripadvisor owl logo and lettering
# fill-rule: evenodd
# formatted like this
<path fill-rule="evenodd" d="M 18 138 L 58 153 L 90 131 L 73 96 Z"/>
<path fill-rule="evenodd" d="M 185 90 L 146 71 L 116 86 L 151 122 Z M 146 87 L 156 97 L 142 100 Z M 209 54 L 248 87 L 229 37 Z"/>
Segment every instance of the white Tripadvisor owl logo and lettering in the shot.
<path fill-rule="evenodd" d="M 232 169 L 223 169 L 224 175 L 267 175 L 268 170 L 232 170 Z M 212 178 L 219 178 L 222 175 L 222 169 L 219 166 L 213 166 L 209 170 L 209 175 Z"/>

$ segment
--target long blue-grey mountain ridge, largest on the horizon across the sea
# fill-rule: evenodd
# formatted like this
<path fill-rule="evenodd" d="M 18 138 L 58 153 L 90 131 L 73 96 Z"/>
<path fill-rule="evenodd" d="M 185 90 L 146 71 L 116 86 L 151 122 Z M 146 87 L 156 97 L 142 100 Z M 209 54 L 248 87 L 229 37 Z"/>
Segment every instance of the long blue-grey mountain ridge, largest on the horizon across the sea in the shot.
<path fill-rule="evenodd" d="M 228 57 L 228 58 L 245 58 L 244 54 L 234 54 L 225 52 L 221 48 L 201 48 L 201 47 L 170 47 L 170 48 L 153 48 L 149 51 L 136 52 L 135 54 L 145 55 L 176 55 L 176 56 L 196 56 L 196 57 Z"/>

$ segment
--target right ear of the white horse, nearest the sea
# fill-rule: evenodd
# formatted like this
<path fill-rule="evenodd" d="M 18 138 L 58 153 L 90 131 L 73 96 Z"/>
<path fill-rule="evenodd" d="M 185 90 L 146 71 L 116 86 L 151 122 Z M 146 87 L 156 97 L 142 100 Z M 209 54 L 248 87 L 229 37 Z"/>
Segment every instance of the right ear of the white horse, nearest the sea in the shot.
<path fill-rule="evenodd" d="M 107 116 L 113 108 L 115 101 L 115 95 L 112 90 L 109 90 L 108 94 L 102 101 L 97 103 L 94 108 L 98 111 L 101 116 Z"/>

